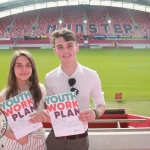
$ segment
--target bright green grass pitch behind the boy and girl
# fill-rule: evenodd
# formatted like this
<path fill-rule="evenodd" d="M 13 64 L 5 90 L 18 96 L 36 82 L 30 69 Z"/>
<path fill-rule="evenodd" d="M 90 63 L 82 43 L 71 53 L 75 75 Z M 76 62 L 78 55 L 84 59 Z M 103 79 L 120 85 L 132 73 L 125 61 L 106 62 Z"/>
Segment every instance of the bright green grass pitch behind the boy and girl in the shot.
<path fill-rule="evenodd" d="M 0 90 L 6 85 L 13 52 L 0 50 Z M 40 82 L 43 83 L 45 74 L 59 65 L 59 59 L 52 50 L 30 52 L 35 58 Z M 81 49 L 77 58 L 81 64 L 98 72 L 106 106 L 123 107 L 128 113 L 150 116 L 150 50 Z M 118 92 L 123 94 L 121 102 L 115 101 L 115 93 Z"/>

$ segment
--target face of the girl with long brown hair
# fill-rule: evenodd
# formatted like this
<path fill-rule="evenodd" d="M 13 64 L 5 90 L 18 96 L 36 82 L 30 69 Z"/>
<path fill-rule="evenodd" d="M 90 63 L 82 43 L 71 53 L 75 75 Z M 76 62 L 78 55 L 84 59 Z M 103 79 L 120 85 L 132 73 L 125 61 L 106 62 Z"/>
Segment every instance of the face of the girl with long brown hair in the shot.
<path fill-rule="evenodd" d="M 19 56 L 16 59 L 14 73 L 17 81 L 28 81 L 32 75 L 32 65 L 26 56 Z"/>

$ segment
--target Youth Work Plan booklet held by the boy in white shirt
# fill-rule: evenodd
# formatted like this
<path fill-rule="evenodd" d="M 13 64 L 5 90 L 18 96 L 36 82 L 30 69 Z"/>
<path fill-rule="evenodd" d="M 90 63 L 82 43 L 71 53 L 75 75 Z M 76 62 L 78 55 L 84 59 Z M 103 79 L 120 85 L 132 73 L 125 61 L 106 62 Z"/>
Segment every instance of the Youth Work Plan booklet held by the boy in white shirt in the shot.
<path fill-rule="evenodd" d="M 45 100 L 56 137 L 84 133 L 75 92 L 47 96 Z"/>

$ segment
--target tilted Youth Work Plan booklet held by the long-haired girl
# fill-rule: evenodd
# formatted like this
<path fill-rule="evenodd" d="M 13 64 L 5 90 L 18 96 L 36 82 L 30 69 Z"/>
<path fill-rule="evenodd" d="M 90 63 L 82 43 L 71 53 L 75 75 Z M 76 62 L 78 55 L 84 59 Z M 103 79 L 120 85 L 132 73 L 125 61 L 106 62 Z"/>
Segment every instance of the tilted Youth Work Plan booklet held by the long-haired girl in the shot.
<path fill-rule="evenodd" d="M 29 91 L 22 92 L 2 103 L 0 107 L 7 117 L 16 139 L 43 127 L 42 123 L 31 124 L 29 115 L 36 113 L 36 108 Z"/>

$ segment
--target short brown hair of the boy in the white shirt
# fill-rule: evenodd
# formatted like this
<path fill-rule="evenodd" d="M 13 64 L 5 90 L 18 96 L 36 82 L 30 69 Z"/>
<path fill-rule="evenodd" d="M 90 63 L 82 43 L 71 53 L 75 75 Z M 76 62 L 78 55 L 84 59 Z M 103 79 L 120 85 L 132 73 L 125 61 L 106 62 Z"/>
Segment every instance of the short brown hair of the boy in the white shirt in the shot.
<path fill-rule="evenodd" d="M 50 41 L 51 41 L 51 44 L 53 45 L 53 48 L 55 47 L 55 39 L 60 36 L 62 36 L 65 41 L 77 41 L 76 36 L 71 30 L 67 28 L 62 28 L 61 30 L 55 30 L 50 35 Z"/>

